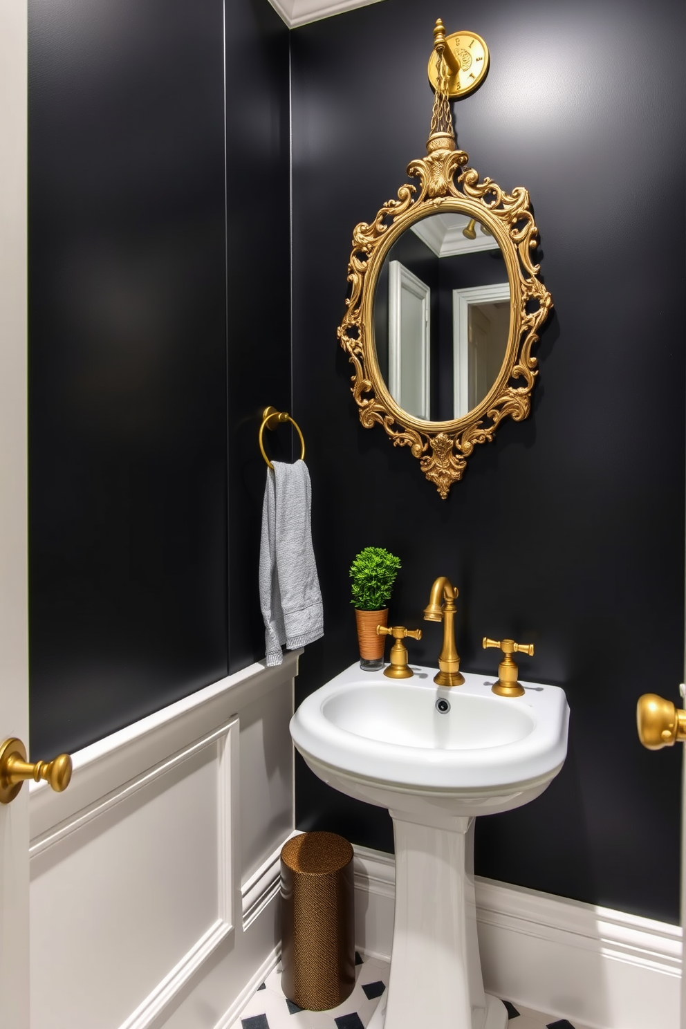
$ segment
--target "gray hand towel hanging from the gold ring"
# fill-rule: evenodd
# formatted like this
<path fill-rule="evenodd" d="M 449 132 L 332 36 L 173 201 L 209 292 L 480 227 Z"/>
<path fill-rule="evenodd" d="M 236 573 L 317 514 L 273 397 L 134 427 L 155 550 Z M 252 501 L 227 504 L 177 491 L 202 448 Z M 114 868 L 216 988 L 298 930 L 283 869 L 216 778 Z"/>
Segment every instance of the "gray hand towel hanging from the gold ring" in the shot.
<path fill-rule="evenodd" d="M 266 664 L 324 635 L 322 595 L 310 528 L 310 473 L 304 461 L 266 469 L 259 551 L 259 599 Z"/>

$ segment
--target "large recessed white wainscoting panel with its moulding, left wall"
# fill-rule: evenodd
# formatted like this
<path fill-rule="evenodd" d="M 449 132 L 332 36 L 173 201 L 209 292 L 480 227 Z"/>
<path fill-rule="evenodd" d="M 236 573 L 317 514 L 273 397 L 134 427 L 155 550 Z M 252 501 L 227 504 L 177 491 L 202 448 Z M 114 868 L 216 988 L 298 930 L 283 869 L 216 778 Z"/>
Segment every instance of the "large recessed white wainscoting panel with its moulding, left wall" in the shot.
<path fill-rule="evenodd" d="M 135 779 L 31 848 L 36 1025 L 55 1024 L 63 1013 L 58 1024 L 95 1026 L 105 1010 L 107 1024 L 142 1029 L 142 1012 L 129 1017 L 150 994 L 158 998 L 170 970 L 180 988 L 184 957 L 208 934 L 219 943 L 230 931 L 226 770 L 237 726 Z M 71 945 L 56 948 L 67 925 Z M 153 998 L 145 1006 L 156 1007 Z"/>

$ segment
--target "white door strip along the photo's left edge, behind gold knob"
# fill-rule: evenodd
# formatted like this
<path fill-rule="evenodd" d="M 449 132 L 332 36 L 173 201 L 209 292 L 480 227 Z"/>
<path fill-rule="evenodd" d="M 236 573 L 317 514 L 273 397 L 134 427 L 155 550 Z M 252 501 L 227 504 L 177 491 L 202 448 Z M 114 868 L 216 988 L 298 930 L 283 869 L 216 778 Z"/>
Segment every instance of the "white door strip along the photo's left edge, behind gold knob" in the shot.
<path fill-rule="evenodd" d="M 0 743 L 28 745 L 27 4 L 0 0 Z M 0 1026 L 29 1026 L 29 789 L 0 806 Z"/>

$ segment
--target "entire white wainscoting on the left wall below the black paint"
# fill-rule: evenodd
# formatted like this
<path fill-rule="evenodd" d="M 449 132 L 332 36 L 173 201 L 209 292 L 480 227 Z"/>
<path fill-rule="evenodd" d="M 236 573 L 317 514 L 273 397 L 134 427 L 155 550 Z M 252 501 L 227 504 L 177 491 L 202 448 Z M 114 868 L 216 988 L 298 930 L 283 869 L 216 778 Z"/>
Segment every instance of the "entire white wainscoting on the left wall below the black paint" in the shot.
<path fill-rule="evenodd" d="M 79 751 L 65 793 L 32 784 L 32 1029 L 214 1029 L 276 963 L 297 657 Z"/>

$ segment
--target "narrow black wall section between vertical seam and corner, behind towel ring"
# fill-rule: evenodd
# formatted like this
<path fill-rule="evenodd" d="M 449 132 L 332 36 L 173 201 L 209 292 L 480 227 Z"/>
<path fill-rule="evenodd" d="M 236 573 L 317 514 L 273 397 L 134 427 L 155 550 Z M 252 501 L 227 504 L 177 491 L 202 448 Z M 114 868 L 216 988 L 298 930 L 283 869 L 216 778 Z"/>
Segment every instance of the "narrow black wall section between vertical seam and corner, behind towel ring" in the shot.
<path fill-rule="evenodd" d="M 291 410 L 288 30 L 267 0 L 226 21 L 229 671 L 264 657 L 257 589 L 266 465 L 262 410 Z M 292 432 L 265 432 L 291 460 Z"/>

